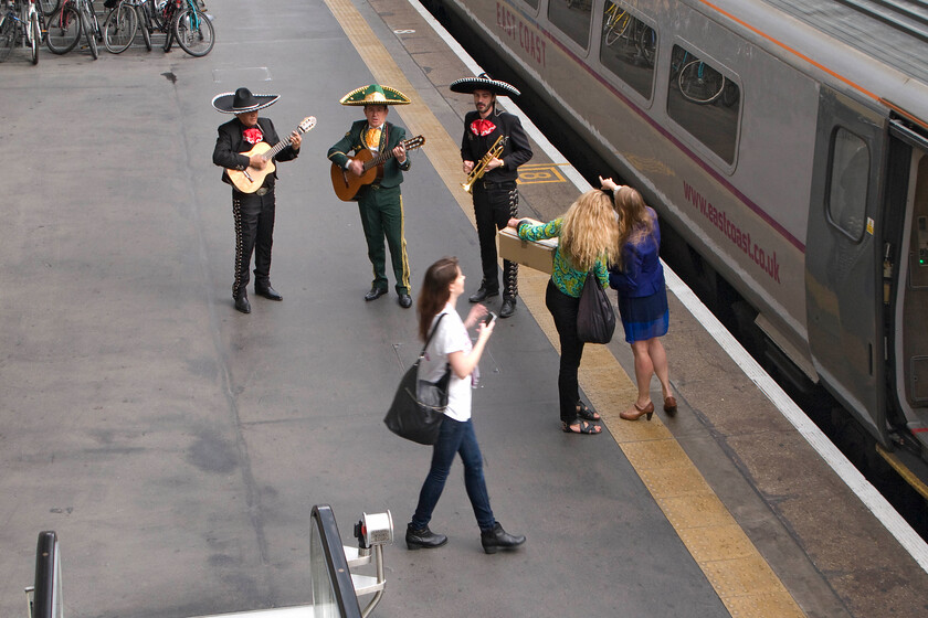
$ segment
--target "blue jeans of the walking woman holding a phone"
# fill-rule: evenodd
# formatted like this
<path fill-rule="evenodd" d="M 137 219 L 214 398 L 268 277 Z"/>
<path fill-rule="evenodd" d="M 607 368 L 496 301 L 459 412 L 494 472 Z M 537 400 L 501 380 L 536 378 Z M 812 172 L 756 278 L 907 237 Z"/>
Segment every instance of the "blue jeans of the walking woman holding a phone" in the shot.
<path fill-rule="evenodd" d="M 471 419 L 461 423 L 447 416 L 442 422 L 439 441 L 432 450 L 432 468 L 419 492 L 419 505 L 415 508 L 415 514 L 412 515 L 414 529 L 421 530 L 432 520 L 432 511 L 435 510 L 435 504 L 442 497 L 447 473 L 451 471 L 455 454 L 458 452 L 464 462 L 464 487 L 467 489 L 467 497 L 474 508 L 477 524 L 482 531 L 493 530 L 496 520 L 493 519 L 493 510 L 489 508 L 489 496 L 486 492 L 483 476 L 483 455 L 477 445 L 477 436 L 474 434 L 474 425 Z"/>

